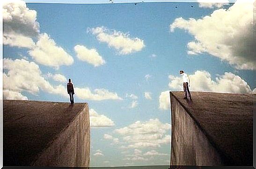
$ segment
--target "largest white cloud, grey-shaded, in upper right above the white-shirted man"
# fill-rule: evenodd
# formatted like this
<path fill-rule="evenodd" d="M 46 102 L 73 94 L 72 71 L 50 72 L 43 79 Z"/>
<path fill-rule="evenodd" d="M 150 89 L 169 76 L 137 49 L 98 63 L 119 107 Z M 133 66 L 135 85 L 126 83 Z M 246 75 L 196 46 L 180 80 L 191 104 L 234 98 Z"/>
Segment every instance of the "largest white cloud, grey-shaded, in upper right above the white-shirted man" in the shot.
<path fill-rule="evenodd" d="M 188 43 L 188 54 L 208 53 L 237 69 L 253 70 L 256 62 L 253 42 L 253 3 L 236 2 L 226 9 L 217 9 L 201 19 L 176 18 L 170 24 L 188 31 L 195 40 Z"/>

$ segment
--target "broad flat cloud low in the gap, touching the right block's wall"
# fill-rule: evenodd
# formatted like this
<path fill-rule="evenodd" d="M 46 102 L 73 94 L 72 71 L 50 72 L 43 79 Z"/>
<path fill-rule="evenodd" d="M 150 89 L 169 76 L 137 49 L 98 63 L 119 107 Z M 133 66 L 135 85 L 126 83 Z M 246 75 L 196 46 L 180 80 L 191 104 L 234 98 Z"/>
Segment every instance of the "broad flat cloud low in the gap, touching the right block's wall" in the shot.
<path fill-rule="evenodd" d="M 170 124 L 150 119 L 145 122 L 136 121 L 127 127 L 116 129 L 115 132 L 128 144 L 124 148 L 157 148 L 170 143 L 170 135 L 167 134 L 170 129 Z"/>

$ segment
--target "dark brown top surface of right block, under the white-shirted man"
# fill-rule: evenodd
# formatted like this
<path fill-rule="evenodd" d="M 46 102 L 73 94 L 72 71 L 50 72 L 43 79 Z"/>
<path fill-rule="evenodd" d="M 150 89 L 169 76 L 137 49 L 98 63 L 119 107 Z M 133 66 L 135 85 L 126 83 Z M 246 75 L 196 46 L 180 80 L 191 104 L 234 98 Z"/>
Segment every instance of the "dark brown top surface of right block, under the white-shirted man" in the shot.
<path fill-rule="evenodd" d="M 253 94 L 170 92 L 208 137 L 213 146 L 227 158 L 227 163 L 253 162 Z"/>

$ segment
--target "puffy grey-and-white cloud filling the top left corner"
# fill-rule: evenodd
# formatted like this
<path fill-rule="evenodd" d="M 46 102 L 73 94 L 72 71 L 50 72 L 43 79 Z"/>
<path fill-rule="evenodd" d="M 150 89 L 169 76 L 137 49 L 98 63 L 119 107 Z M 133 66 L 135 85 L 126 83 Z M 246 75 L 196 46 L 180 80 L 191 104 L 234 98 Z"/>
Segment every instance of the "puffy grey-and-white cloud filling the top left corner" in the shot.
<path fill-rule="evenodd" d="M 32 48 L 32 37 L 38 34 L 37 11 L 27 8 L 23 0 L 3 2 L 3 44 Z"/>

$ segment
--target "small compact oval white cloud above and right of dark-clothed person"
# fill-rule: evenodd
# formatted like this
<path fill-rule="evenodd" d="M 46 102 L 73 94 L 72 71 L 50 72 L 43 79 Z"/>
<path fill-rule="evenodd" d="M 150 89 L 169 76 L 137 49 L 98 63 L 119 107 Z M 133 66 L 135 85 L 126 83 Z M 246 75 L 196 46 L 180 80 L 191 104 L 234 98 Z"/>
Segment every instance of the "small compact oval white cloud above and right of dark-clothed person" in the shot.
<path fill-rule="evenodd" d="M 96 49 L 88 49 L 83 45 L 76 45 L 74 47 L 76 56 L 87 63 L 94 65 L 95 67 L 105 64 L 105 60 L 99 55 Z"/>

